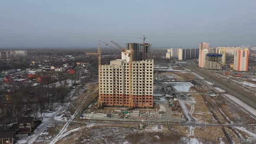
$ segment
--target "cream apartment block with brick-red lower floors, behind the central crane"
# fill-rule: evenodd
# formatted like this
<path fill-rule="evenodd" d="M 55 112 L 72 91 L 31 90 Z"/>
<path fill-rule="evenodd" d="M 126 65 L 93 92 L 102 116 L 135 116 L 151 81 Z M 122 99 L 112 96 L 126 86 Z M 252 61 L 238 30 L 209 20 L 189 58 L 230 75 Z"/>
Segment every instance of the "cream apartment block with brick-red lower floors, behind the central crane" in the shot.
<path fill-rule="evenodd" d="M 135 107 L 153 106 L 154 60 L 133 62 L 133 103 Z M 102 65 L 100 75 L 100 97 L 104 105 L 128 106 L 129 62 L 116 59 L 110 65 Z"/>

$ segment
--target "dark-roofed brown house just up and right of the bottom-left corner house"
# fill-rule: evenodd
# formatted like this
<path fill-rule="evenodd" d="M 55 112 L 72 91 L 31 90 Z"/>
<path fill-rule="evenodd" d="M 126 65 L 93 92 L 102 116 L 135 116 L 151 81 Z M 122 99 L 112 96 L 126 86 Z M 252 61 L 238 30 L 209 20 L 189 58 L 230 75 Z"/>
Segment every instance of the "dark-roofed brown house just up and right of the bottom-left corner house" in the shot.
<path fill-rule="evenodd" d="M 28 137 L 32 133 L 34 128 L 34 118 L 33 117 L 23 117 L 19 118 L 19 131 L 17 137 Z"/>

